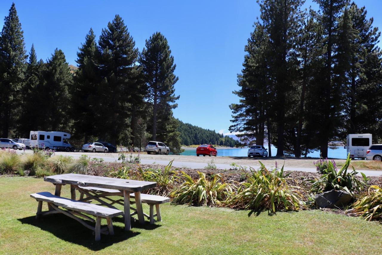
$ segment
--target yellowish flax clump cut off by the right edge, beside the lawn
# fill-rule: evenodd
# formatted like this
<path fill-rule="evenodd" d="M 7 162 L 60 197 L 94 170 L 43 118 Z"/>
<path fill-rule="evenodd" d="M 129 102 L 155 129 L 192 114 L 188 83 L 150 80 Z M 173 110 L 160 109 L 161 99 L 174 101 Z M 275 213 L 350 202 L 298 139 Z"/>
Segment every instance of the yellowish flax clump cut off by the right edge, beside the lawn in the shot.
<path fill-rule="evenodd" d="M 346 211 L 351 216 L 361 216 L 366 221 L 382 219 L 382 189 L 376 185 L 370 186 L 367 195 L 359 198 L 351 207 Z"/>

